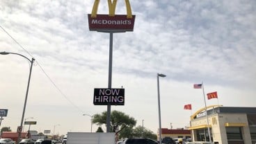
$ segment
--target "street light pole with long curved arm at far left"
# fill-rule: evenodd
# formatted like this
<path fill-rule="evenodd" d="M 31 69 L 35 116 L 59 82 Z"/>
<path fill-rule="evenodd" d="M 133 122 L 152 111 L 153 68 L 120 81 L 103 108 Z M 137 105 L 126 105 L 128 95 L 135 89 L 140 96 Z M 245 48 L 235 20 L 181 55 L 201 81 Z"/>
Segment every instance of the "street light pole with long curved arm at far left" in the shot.
<path fill-rule="evenodd" d="M 8 52 L 0 52 L 1 55 L 8 55 L 8 54 L 13 54 L 13 55 L 19 55 L 19 56 L 22 56 L 24 58 L 26 58 L 26 60 L 29 60 L 28 57 L 25 57 L 24 55 L 21 55 L 19 53 L 8 53 Z M 30 84 L 30 79 L 31 79 L 31 72 L 32 72 L 32 67 L 33 67 L 33 62 L 34 62 L 34 58 L 32 57 L 31 60 L 29 60 L 29 62 L 31 62 L 31 65 L 30 65 L 30 69 L 29 69 L 29 81 L 28 81 L 28 85 L 26 87 L 26 97 L 25 97 L 25 101 L 24 101 L 24 107 L 23 107 L 23 112 L 22 112 L 22 120 L 21 120 L 21 123 L 20 123 L 20 126 L 19 126 L 19 137 L 18 137 L 18 140 L 17 142 L 19 143 L 20 141 L 20 138 L 22 136 L 22 125 L 23 125 L 23 120 L 24 120 L 24 115 L 25 115 L 25 110 L 26 110 L 26 100 L 28 98 L 28 94 L 29 94 L 29 84 Z"/>

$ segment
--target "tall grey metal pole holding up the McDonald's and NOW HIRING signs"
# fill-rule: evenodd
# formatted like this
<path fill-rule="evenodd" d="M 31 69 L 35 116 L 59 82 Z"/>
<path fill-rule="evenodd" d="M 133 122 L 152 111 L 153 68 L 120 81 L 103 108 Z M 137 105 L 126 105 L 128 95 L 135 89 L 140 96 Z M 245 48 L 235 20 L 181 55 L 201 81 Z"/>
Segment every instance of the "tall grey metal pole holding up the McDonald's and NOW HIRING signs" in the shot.
<path fill-rule="evenodd" d="M 109 89 L 112 84 L 112 57 L 113 57 L 113 32 L 109 32 Z M 106 112 L 106 132 L 110 131 L 110 120 L 111 120 L 111 105 L 107 106 Z"/>

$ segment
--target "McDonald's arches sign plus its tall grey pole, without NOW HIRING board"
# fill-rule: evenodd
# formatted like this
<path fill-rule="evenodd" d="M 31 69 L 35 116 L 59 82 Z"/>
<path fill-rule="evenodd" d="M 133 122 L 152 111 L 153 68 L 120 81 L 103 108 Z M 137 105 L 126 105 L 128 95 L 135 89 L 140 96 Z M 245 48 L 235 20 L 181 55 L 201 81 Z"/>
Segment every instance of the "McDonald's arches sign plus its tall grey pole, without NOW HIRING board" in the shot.
<path fill-rule="evenodd" d="M 113 33 L 125 33 L 134 30 L 135 15 L 131 14 L 129 0 L 125 0 L 127 15 L 115 15 L 117 0 L 108 0 L 109 15 L 97 15 L 99 0 L 95 0 L 91 15 L 88 15 L 89 30 L 109 33 L 109 84 L 112 84 L 112 61 L 113 61 Z M 111 132 L 111 103 L 107 104 L 106 132 Z"/>

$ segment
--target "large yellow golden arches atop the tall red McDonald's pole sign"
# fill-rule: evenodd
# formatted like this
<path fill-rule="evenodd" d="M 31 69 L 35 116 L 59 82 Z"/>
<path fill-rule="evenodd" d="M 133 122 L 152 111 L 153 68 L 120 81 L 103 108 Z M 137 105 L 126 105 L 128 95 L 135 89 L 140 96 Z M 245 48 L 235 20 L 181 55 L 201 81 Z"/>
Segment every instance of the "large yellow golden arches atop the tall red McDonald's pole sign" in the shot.
<path fill-rule="evenodd" d="M 116 7 L 116 3 L 118 0 L 108 0 L 108 4 L 109 4 L 109 17 L 114 17 L 115 16 L 115 7 Z M 131 14 L 131 5 L 129 3 L 129 0 L 125 0 L 125 4 L 126 4 L 126 10 L 127 10 L 127 18 L 131 19 L 132 18 L 132 14 Z M 95 0 L 94 4 L 93 4 L 93 11 L 90 17 L 97 17 L 97 10 L 99 7 L 99 0 Z"/>

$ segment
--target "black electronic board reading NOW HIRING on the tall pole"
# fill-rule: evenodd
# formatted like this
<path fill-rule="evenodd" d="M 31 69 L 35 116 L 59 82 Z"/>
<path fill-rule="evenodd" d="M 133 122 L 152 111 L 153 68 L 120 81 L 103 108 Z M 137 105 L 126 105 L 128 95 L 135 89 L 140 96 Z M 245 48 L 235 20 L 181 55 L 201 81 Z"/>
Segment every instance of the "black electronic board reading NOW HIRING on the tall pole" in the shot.
<path fill-rule="evenodd" d="M 125 89 L 94 89 L 94 105 L 125 105 Z"/>

